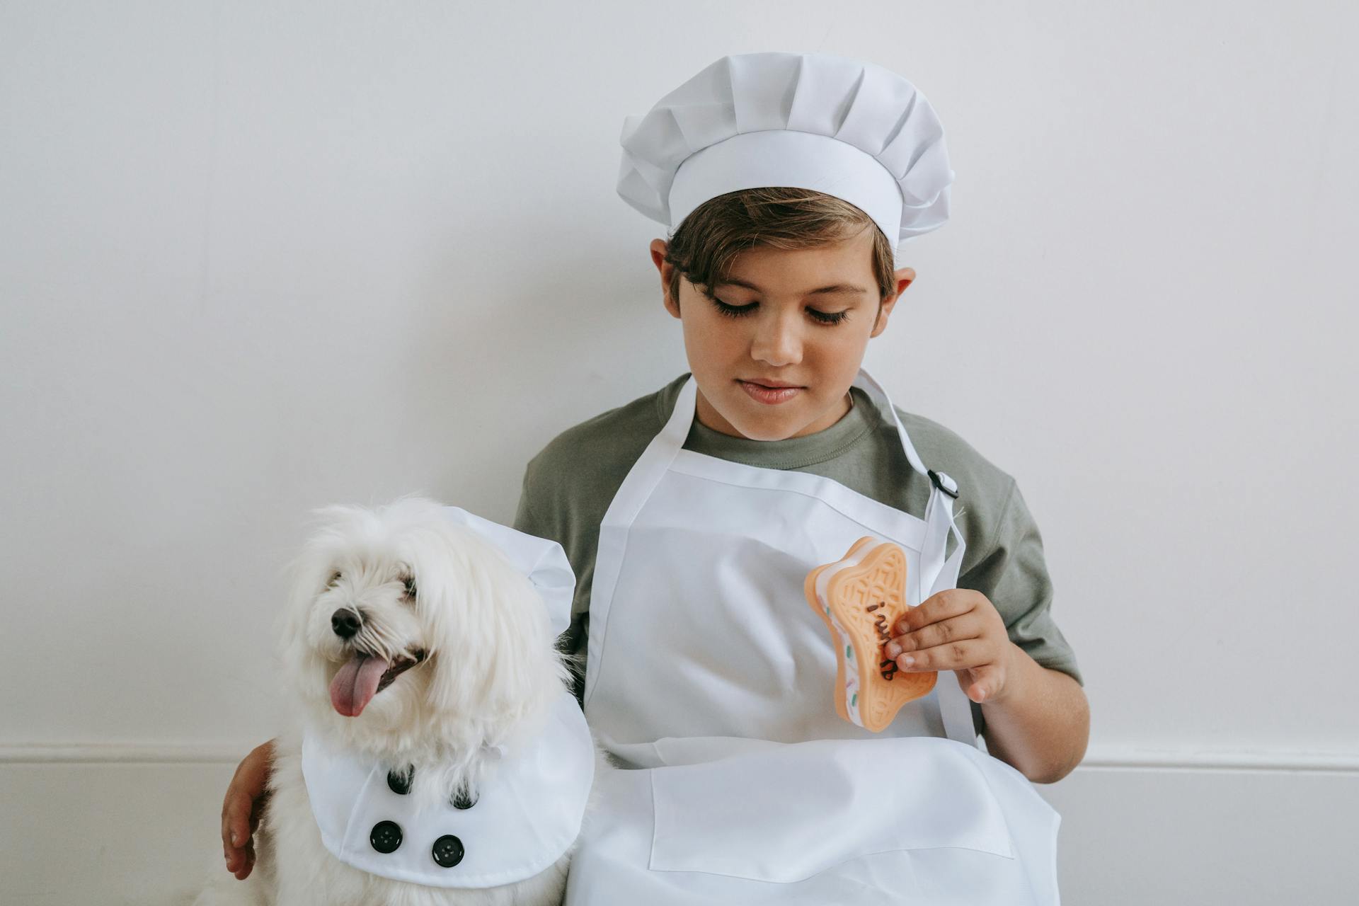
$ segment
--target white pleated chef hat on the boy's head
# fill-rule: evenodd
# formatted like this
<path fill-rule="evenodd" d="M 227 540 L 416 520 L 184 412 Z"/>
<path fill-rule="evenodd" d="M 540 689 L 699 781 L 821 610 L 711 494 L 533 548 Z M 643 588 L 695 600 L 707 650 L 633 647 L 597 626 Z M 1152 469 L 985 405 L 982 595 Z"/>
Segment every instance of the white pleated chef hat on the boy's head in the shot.
<path fill-rule="evenodd" d="M 618 194 L 671 232 L 704 201 L 792 186 L 868 215 L 893 249 L 949 219 L 943 126 L 913 84 L 822 53 L 745 53 L 622 124 Z"/>

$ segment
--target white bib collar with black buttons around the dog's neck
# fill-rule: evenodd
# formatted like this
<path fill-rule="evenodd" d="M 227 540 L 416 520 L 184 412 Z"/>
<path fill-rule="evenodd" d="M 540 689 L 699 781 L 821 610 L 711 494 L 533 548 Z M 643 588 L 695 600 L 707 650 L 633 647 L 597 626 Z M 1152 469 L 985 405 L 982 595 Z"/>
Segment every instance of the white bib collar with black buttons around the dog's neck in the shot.
<path fill-rule="evenodd" d="M 563 691 L 549 710 L 537 739 L 504 751 L 476 800 L 423 808 L 404 766 L 306 733 L 302 774 L 326 849 L 371 875 L 429 887 L 496 887 L 542 872 L 580 833 L 595 758 L 575 697 Z"/>

